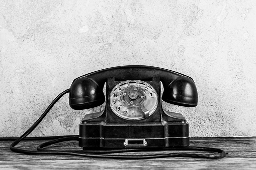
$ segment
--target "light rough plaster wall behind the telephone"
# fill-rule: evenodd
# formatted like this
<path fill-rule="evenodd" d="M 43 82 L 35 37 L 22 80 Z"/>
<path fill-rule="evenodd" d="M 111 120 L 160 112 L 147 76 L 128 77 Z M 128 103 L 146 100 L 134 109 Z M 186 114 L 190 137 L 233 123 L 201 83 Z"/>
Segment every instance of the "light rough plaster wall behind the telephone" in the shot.
<path fill-rule="evenodd" d="M 74 78 L 150 65 L 191 76 L 190 136 L 256 136 L 256 1 L 0 1 L 0 136 L 20 136 Z M 65 95 L 31 136 L 78 134 Z"/>

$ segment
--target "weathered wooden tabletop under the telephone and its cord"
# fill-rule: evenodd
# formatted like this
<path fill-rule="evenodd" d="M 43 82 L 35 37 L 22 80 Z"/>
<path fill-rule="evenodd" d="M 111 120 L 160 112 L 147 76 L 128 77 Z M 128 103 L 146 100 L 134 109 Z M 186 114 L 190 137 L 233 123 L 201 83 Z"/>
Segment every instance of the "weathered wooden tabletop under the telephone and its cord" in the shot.
<path fill-rule="evenodd" d="M 22 147 L 33 149 L 42 142 L 45 141 L 23 141 Z M 222 159 L 176 157 L 117 160 L 69 155 L 27 155 L 12 152 L 10 143 L 12 141 L 0 141 L 0 169 L 256 169 L 256 137 L 191 138 L 190 146 L 216 147 L 228 152 Z M 63 142 L 50 149 L 81 149 L 77 145 L 76 141 Z"/>

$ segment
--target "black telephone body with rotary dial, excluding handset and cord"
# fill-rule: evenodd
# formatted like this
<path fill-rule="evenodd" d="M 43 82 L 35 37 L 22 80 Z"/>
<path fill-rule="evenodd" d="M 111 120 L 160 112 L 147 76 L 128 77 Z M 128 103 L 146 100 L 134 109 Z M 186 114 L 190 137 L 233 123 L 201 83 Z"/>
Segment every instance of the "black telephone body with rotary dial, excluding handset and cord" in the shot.
<path fill-rule="evenodd" d="M 189 145 L 185 117 L 162 108 L 160 77 L 147 81 L 110 77 L 106 93 L 105 109 L 82 119 L 79 146 L 87 149 Z"/>

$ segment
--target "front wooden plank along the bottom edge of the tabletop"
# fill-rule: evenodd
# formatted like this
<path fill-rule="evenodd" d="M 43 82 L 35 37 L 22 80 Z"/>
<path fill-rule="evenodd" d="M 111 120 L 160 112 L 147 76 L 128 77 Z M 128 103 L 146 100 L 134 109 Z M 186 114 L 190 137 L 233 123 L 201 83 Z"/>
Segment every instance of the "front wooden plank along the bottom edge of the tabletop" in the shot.
<path fill-rule="evenodd" d="M 150 160 L 27 160 L 0 161 L 0 168 L 10 169 L 255 169 L 256 158 L 150 159 Z"/>

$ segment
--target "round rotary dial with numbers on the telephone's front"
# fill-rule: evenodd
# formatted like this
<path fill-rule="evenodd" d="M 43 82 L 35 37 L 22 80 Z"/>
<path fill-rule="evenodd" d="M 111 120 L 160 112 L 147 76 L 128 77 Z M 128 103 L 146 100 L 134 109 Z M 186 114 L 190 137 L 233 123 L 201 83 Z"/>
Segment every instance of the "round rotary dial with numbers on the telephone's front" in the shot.
<path fill-rule="evenodd" d="M 148 83 L 127 80 L 116 85 L 110 93 L 110 107 L 126 120 L 141 120 L 154 113 L 157 93 Z"/>

